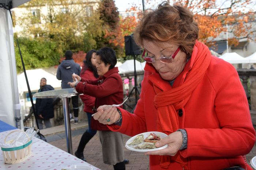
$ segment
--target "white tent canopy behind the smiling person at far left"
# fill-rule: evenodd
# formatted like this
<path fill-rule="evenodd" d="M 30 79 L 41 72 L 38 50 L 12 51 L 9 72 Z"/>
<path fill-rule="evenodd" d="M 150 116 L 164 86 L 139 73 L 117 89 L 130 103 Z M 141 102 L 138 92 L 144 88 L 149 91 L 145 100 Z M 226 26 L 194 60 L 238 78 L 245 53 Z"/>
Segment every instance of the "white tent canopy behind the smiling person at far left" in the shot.
<path fill-rule="evenodd" d="M 31 91 L 38 90 L 40 88 L 41 78 L 46 78 L 47 84 L 53 86 L 53 88 L 59 88 L 61 86 L 61 81 L 57 80 L 56 76 L 46 72 L 43 69 L 26 70 L 27 79 L 29 81 L 29 87 Z M 17 76 L 18 79 L 18 89 L 19 93 L 27 92 L 27 83 L 25 79 L 25 74 L 21 73 Z"/>

